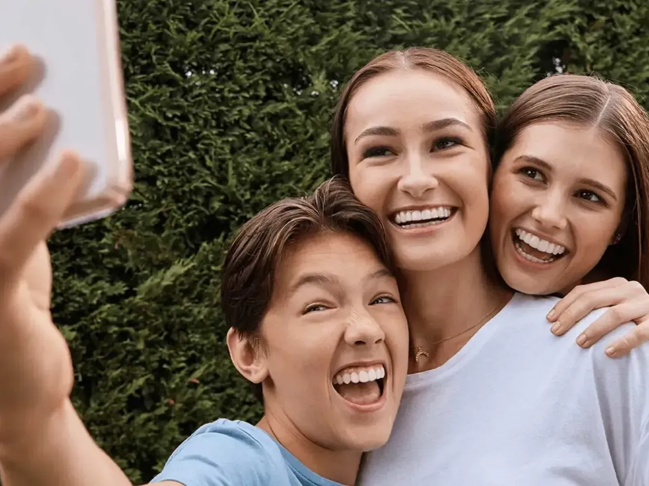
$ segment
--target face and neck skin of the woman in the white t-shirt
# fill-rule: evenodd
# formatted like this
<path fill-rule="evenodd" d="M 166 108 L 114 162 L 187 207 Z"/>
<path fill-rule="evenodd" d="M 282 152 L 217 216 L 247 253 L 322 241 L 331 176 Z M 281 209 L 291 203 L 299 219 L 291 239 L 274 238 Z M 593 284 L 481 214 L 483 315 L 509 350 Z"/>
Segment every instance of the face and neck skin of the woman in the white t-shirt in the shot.
<path fill-rule="evenodd" d="M 487 276 L 478 247 L 490 170 L 480 117 L 445 78 L 390 71 L 352 97 L 345 138 L 354 193 L 382 218 L 402 272 L 412 343 L 430 350 L 428 359 L 411 361 L 410 371 L 441 365 L 479 328 L 464 330 L 511 297 Z M 395 223 L 399 211 L 439 206 L 453 215 L 438 226 Z"/>

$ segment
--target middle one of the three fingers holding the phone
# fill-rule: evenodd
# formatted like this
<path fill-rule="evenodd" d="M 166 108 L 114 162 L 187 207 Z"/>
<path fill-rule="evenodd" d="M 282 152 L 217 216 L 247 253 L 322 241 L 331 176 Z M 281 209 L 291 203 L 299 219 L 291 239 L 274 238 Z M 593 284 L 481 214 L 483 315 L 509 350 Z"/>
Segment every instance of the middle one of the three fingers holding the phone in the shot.
<path fill-rule="evenodd" d="M 21 97 L 0 115 L 0 160 L 36 138 L 47 122 L 47 110 L 31 95 Z"/>

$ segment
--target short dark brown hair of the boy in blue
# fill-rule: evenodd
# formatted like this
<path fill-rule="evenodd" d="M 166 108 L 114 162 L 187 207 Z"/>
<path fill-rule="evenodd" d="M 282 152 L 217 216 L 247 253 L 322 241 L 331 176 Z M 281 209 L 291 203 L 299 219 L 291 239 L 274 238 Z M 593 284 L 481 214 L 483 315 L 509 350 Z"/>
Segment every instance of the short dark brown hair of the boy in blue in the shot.
<path fill-rule="evenodd" d="M 379 218 L 356 199 L 347 181 L 334 177 L 313 194 L 276 202 L 241 226 L 223 263 L 221 307 L 228 327 L 243 339 L 256 340 L 282 255 L 295 242 L 325 231 L 361 238 L 395 273 Z M 261 385 L 252 388 L 263 402 Z"/>

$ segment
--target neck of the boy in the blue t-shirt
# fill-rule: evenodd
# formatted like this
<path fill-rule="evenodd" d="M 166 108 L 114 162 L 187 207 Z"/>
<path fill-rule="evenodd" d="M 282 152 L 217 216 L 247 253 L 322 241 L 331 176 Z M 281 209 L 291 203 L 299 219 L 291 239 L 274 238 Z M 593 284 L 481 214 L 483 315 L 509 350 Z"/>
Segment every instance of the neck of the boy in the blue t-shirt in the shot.
<path fill-rule="evenodd" d="M 353 486 L 356 483 L 361 451 L 330 450 L 318 445 L 299 432 L 286 415 L 268 409 L 257 424 L 259 428 L 275 438 L 315 474 L 343 485 Z"/>

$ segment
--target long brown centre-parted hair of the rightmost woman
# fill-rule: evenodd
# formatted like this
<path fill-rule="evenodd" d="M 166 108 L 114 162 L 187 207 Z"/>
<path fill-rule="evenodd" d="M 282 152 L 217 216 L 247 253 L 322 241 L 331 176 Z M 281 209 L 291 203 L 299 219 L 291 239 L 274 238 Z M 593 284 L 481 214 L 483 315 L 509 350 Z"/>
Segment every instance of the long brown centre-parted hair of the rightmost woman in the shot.
<path fill-rule="evenodd" d="M 626 231 L 598 263 L 607 276 L 649 286 L 649 119 L 633 95 L 593 76 L 554 75 L 528 87 L 500 121 L 497 164 L 526 126 L 543 121 L 571 122 L 604 130 L 622 149 L 629 170 Z"/>

